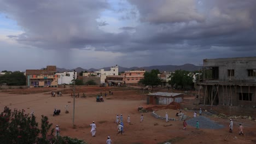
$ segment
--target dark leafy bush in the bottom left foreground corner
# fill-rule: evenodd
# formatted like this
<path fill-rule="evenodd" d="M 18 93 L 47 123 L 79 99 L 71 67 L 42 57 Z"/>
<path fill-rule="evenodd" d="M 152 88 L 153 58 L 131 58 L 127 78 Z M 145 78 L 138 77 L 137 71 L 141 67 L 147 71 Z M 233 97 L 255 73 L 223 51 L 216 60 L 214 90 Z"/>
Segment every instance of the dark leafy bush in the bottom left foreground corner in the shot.
<path fill-rule="evenodd" d="M 53 124 L 49 123 L 48 117 L 43 116 L 41 118 L 40 128 L 38 122 L 36 122 L 35 116 L 25 114 L 25 110 L 13 112 L 8 109 L 0 114 L 0 143 L 44 143 L 50 144 L 49 136 L 53 135 L 54 128 L 51 129 L 51 133 L 48 133 Z M 83 140 L 72 139 L 67 136 L 53 137 L 52 141 L 55 144 L 85 144 Z"/>

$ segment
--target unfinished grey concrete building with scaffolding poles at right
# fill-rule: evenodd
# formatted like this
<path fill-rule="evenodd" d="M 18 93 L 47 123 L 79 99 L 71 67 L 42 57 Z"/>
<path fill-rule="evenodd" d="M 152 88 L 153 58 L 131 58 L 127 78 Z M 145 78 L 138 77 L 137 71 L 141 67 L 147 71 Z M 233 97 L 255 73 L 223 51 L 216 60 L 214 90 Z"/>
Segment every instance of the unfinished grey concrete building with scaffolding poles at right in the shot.
<path fill-rule="evenodd" d="M 203 59 L 203 105 L 256 106 L 256 57 Z"/>

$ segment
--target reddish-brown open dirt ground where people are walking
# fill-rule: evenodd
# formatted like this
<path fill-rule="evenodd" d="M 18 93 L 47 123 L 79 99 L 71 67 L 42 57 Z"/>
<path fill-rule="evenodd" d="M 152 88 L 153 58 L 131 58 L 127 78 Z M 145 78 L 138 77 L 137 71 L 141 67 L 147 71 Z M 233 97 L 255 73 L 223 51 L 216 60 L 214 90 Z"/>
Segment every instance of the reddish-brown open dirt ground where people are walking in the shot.
<path fill-rule="evenodd" d="M 131 87 L 92 87 L 80 86 L 75 89 L 80 96 L 85 93 L 86 98 L 75 98 L 75 119 L 73 128 L 73 98 L 71 98 L 72 87 L 67 88 L 32 88 L 32 89 L 8 89 L 0 92 L 0 109 L 4 106 L 10 109 L 25 109 L 27 113 L 34 111 L 37 121 L 40 116 L 49 117 L 49 122 L 58 124 L 62 136 L 77 137 L 88 143 L 106 143 L 110 136 L 113 143 L 256 143 L 256 125 L 248 119 L 234 119 L 234 133 L 228 132 L 229 119 L 212 118 L 213 121 L 226 125 L 223 129 L 199 129 L 188 126 L 183 130 L 181 121 L 170 121 L 156 119 L 151 112 L 140 113 L 138 107 L 150 107 L 146 105 L 146 93 Z M 109 90 L 113 95 L 109 95 Z M 51 91 L 62 91 L 62 97 L 51 97 Z M 167 91 L 163 89 L 162 91 Z M 107 93 L 103 103 L 96 102 L 96 96 L 102 92 Z M 104 97 L 104 96 L 103 96 Z M 68 105 L 69 113 L 65 113 L 65 105 Z M 53 110 L 61 109 L 59 116 L 53 117 Z M 177 118 L 175 114 L 179 110 L 164 109 L 156 113 L 170 118 Z M 184 111 L 185 115 L 193 116 L 193 111 Z M 117 135 L 118 129 L 115 121 L 117 114 L 123 114 L 124 133 Z M 140 116 L 144 115 L 144 121 L 140 123 Z M 127 116 L 131 117 L 131 124 L 127 124 Z M 97 131 L 96 137 L 90 134 L 89 124 L 95 121 Z M 245 136 L 238 135 L 238 124 L 243 123 Z M 164 127 L 172 124 L 168 127 Z M 54 128 L 54 127 L 53 127 Z M 228 136 L 229 135 L 229 136 Z M 225 137 L 227 137 L 226 140 Z"/>

